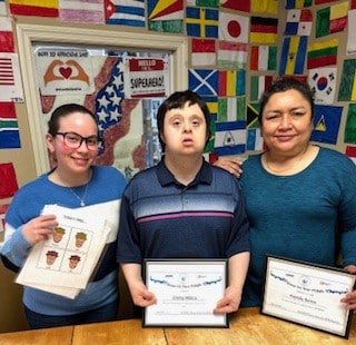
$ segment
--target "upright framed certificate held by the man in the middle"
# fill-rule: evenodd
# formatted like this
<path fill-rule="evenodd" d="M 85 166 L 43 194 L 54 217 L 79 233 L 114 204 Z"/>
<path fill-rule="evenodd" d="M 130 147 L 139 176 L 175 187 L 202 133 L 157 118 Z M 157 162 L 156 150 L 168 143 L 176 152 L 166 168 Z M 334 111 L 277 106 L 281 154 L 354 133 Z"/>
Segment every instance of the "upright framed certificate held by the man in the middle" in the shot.
<path fill-rule="evenodd" d="M 229 327 L 214 314 L 227 286 L 227 259 L 146 259 L 144 276 L 157 303 L 144 310 L 144 327 Z"/>

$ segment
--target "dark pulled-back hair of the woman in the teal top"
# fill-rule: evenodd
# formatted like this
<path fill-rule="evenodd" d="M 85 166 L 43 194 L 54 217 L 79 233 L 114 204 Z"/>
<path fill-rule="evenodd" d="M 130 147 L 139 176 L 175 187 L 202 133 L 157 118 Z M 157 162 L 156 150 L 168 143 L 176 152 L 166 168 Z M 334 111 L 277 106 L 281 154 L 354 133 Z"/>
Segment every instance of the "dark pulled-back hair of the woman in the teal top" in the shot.
<path fill-rule="evenodd" d="M 259 124 L 263 121 L 263 114 L 268 102 L 269 98 L 278 92 L 285 92 L 288 90 L 299 91 L 300 95 L 309 102 L 312 109 L 312 119 L 314 117 L 314 91 L 310 89 L 309 85 L 303 81 L 299 81 L 293 77 L 283 77 L 276 79 L 273 85 L 265 91 L 259 101 L 259 114 L 258 120 Z"/>

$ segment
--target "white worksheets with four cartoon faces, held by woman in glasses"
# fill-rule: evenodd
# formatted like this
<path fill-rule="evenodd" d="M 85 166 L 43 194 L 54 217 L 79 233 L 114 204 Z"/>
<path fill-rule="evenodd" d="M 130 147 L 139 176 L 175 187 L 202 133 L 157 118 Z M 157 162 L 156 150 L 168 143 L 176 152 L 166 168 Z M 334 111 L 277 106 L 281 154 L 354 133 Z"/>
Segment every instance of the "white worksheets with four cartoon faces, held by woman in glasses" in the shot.
<path fill-rule="evenodd" d="M 47 205 L 59 223 L 48 240 L 36 245 L 17 283 L 73 298 L 86 288 L 111 227 L 90 209 Z"/>

